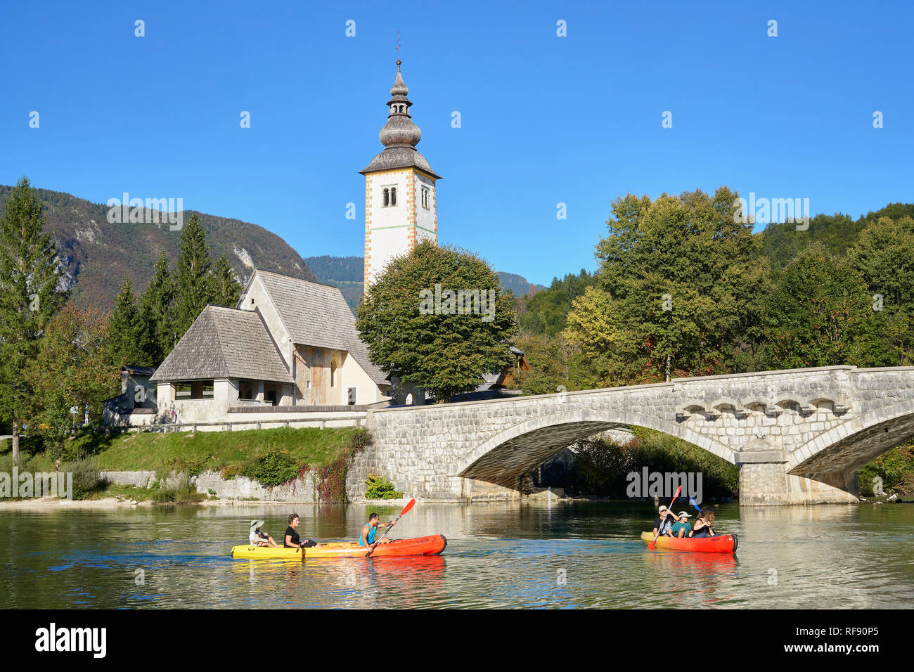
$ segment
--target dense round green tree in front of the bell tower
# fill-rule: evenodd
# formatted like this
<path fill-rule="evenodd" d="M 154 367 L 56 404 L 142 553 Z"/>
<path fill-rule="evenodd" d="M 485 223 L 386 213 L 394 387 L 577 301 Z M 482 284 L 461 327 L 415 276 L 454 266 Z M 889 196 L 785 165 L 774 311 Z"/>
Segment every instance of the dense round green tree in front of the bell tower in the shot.
<path fill-rule="evenodd" d="M 513 361 L 515 314 L 500 290 L 486 261 L 424 241 L 368 286 L 356 326 L 372 362 L 443 402 Z"/>

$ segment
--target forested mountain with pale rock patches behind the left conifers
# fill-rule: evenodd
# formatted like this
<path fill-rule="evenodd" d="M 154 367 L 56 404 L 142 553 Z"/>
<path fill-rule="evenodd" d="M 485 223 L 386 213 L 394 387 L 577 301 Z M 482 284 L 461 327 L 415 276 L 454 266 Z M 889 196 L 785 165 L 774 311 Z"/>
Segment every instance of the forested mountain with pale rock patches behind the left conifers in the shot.
<path fill-rule="evenodd" d="M 12 188 L 0 185 L 0 217 Z M 170 261 L 177 256 L 181 231 L 170 230 L 168 224 L 111 224 L 107 205 L 48 189 L 37 189 L 37 193 L 45 204 L 45 230 L 54 236 L 76 304 L 111 310 L 125 273 L 143 291 L 153 276 L 159 251 L 165 251 Z M 250 222 L 194 210 L 184 211 L 184 221 L 193 214 L 207 232 L 213 259 L 225 255 L 242 283 L 255 266 L 314 280 L 302 257 L 275 233 Z"/>

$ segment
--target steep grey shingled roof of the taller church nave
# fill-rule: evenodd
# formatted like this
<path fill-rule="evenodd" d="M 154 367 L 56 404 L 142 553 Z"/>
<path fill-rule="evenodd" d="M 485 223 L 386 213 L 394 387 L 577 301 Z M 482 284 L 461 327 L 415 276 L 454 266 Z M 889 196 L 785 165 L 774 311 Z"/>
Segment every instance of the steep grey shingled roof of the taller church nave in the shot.
<path fill-rule="evenodd" d="M 256 274 L 270 294 L 292 343 L 345 350 L 370 379 L 379 385 L 387 384 L 386 374 L 368 358 L 367 347 L 358 337 L 356 318 L 337 287 L 270 271 L 258 270 Z"/>

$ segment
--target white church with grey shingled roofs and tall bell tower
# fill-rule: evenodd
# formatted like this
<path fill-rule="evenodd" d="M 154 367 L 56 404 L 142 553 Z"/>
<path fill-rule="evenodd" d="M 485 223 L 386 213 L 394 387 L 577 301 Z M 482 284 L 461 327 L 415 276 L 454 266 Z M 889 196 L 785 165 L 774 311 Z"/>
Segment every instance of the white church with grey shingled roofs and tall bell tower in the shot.
<path fill-rule="evenodd" d="M 378 133 L 384 149 L 359 171 L 365 176 L 366 288 L 391 258 L 421 240 L 438 242 L 435 186 L 441 177 L 416 149 L 421 132 L 408 93 L 398 60 L 388 121 Z M 234 307 L 207 305 L 149 373 L 142 401 L 130 396 L 136 383 L 106 402 L 107 422 L 314 426 L 313 411 L 320 411 L 323 427 L 352 421 L 372 404 L 426 400 L 424 390 L 388 379 L 371 363 L 339 289 L 262 270 L 253 272 Z M 504 387 L 498 374 L 490 378 L 482 391 Z"/>

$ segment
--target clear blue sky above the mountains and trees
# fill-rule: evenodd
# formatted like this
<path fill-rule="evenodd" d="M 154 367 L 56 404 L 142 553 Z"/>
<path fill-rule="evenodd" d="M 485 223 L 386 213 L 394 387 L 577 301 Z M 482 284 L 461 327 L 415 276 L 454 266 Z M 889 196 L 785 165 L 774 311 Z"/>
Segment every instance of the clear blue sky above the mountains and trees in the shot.
<path fill-rule="evenodd" d="M 628 192 L 726 185 L 853 217 L 914 200 L 908 2 L 0 11 L 0 183 L 27 175 L 95 202 L 181 197 L 305 257 L 362 254 L 358 171 L 381 149 L 398 30 L 419 149 L 443 177 L 439 240 L 532 282 L 596 268 L 611 202 Z"/>

